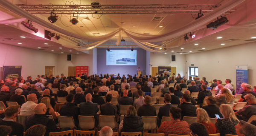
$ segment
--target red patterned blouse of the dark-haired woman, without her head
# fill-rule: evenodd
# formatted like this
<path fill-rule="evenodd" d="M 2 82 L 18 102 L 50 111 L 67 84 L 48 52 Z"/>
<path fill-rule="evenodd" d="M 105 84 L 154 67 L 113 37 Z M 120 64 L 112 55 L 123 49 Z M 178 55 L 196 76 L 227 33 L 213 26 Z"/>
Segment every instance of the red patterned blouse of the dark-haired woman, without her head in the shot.
<path fill-rule="evenodd" d="M 168 134 L 188 135 L 190 131 L 188 122 L 172 119 L 171 121 L 163 122 L 157 133 L 164 133 L 165 136 L 168 136 Z"/>

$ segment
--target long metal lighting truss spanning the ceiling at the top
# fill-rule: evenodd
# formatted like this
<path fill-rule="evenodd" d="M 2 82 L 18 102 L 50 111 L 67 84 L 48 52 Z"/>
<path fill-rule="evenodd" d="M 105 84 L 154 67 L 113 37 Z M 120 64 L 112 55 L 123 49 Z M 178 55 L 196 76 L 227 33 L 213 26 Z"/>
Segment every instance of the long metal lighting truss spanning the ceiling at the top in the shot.
<path fill-rule="evenodd" d="M 20 8 L 32 14 L 191 14 L 201 10 L 204 14 L 213 11 L 221 4 L 174 4 L 174 5 L 23 5 Z M 228 11 L 232 12 L 234 9 Z"/>

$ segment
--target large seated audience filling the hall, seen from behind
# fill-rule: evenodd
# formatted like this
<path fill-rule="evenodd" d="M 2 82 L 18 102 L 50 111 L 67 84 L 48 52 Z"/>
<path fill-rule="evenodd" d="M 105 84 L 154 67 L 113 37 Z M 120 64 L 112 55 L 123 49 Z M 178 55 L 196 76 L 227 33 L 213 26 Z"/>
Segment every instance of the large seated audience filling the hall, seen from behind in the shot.
<path fill-rule="evenodd" d="M 244 82 L 235 90 L 230 79 L 223 84 L 175 73 L 38 75 L 35 80 L 31 76 L 0 80 L 0 91 L 0 136 L 49 136 L 81 129 L 79 116 L 94 116 L 99 135 L 112 136 L 111 127 L 99 128 L 99 115 L 115 116 L 117 132 L 256 136 L 256 86 Z M 123 105 L 126 113 L 121 112 Z M 61 116 L 73 117 L 73 128 L 61 128 Z M 157 131 L 144 128 L 145 116 L 156 117 Z M 186 120 L 189 117 L 195 121 Z"/>

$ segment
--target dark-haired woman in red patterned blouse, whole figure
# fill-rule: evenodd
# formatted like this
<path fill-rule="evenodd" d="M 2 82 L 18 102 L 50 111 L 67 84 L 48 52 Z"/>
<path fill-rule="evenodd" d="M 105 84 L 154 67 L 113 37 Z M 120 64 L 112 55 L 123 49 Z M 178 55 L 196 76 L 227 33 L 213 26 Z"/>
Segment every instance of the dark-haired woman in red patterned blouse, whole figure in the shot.
<path fill-rule="evenodd" d="M 190 134 L 189 123 L 186 121 L 180 121 L 181 109 L 172 107 L 170 108 L 170 118 L 171 121 L 162 122 L 157 133 L 164 133 L 165 136 L 168 134 L 179 134 L 188 135 Z"/>

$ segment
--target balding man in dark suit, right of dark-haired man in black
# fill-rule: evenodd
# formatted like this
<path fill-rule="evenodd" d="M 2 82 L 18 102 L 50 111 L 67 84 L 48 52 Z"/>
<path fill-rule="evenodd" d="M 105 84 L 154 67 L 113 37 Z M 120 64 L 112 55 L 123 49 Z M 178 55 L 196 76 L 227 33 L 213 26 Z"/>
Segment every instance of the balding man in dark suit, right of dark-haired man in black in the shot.
<path fill-rule="evenodd" d="M 99 111 L 98 108 L 98 104 L 97 103 L 93 103 L 92 102 L 92 95 L 91 94 L 87 94 L 85 96 L 85 100 L 86 102 L 82 102 L 80 103 L 79 107 L 80 107 L 80 114 L 82 116 L 94 116 L 94 120 L 95 120 L 95 127 L 98 126 L 98 116 L 97 116 L 97 112 Z"/>

